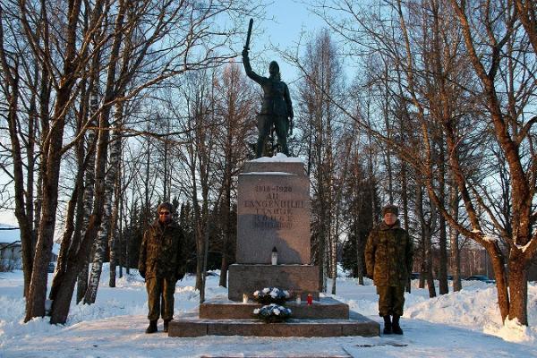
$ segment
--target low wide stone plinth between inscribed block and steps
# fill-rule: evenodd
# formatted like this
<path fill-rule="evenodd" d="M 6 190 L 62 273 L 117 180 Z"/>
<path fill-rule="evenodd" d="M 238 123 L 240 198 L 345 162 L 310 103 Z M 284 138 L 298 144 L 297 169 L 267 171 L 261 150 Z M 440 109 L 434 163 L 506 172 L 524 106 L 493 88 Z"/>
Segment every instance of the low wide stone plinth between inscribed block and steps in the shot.
<path fill-rule="evenodd" d="M 300 294 L 305 301 L 308 294 L 319 300 L 319 267 L 313 265 L 248 265 L 229 266 L 227 297 L 243 301 L 243 294 L 251 294 L 265 287 L 278 287 Z"/>

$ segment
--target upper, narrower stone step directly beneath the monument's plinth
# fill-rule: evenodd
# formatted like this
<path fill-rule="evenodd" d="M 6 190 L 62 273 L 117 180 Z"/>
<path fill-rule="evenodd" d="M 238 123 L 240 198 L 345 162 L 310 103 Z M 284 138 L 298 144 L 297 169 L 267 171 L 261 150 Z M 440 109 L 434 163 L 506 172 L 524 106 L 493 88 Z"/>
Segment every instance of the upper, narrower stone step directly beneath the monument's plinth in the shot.
<path fill-rule="evenodd" d="M 249 302 L 213 299 L 200 304 L 200 319 L 209 320 L 248 320 L 252 318 L 253 310 L 262 304 Z M 291 311 L 294 319 L 337 319 L 348 320 L 349 306 L 331 297 L 321 297 L 311 305 L 305 302 L 287 302 L 285 306 Z"/>

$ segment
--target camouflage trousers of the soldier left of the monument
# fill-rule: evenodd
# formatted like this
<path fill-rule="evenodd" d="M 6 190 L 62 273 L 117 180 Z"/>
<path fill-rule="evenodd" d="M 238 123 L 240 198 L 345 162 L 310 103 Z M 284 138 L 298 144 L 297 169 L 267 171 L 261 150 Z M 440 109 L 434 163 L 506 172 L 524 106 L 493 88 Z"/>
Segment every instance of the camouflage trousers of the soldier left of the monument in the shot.
<path fill-rule="evenodd" d="M 158 320 L 160 316 L 163 320 L 174 318 L 175 282 L 175 278 L 170 277 L 152 277 L 146 280 L 149 320 Z"/>

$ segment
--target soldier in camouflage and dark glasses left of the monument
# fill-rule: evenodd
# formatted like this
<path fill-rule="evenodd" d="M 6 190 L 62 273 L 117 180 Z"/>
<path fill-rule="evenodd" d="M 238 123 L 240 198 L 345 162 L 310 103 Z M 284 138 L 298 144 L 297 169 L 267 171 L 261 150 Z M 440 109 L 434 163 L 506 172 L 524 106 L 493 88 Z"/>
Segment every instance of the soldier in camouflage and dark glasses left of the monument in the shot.
<path fill-rule="evenodd" d="M 157 332 L 158 318 L 164 320 L 164 331 L 174 318 L 175 283 L 184 277 L 183 231 L 172 219 L 172 205 L 158 205 L 158 219 L 143 234 L 138 270 L 146 279 L 149 306 L 149 327 L 146 333 Z"/>

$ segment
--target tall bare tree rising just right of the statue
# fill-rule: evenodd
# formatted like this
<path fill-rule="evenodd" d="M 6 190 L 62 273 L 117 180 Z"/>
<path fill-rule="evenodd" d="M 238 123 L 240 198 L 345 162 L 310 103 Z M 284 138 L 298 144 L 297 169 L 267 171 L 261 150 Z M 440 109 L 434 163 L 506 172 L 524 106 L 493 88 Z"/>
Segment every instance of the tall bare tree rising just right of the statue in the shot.
<path fill-rule="evenodd" d="M 308 124 L 305 126 L 305 140 L 311 143 L 308 149 L 308 170 L 311 171 L 313 189 L 312 261 L 320 266 L 320 287 L 326 292 L 326 278 L 330 275 L 330 265 L 336 264 L 334 255 L 337 252 L 334 201 L 337 141 L 334 127 L 337 125 L 338 114 L 337 107 L 332 105 L 329 96 L 337 97 L 342 94 L 343 77 L 335 44 L 327 30 L 321 31 L 308 43 L 305 51 L 303 61 L 294 59 L 294 62 L 307 74 L 299 90 L 299 106 L 303 109 L 301 121 Z M 330 252 L 333 254 L 332 260 Z"/>

